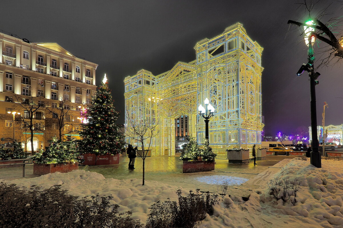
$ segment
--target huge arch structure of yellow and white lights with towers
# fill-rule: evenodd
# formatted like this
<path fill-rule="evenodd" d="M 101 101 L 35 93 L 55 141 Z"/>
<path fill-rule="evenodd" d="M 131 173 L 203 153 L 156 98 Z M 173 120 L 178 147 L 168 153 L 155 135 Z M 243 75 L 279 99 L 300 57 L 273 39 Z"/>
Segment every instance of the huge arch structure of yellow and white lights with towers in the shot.
<path fill-rule="evenodd" d="M 196 60 L 178 62 L 171 70 L 154 76 L 140 70 L 124 79 L 125 124 L 128 118 L 158 120 L 152 139 L 152 155 L 175 155 L 175 118 L 188 115 L 188 135 L 204 143 L 205 123 L 197 115 L 204 99 L 216 109 L 210 120 L 210 145 L 217 158 L 226 159 L 226 149 L 251 149 L 261 144 L 262 97 L 261 52 L 240 23 L 212 38 L 197 42 Z M 131 130 L 126 142 L 136 145 Z M 251 150 L 250 150 L 251 152 Z"/>

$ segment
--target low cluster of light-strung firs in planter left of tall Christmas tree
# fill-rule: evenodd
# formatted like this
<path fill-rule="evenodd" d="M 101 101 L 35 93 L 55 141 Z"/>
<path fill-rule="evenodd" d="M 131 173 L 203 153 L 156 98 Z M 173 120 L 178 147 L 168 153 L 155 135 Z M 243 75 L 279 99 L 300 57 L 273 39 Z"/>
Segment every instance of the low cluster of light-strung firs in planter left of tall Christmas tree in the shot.
<path fill-rule="evenodd" d="M 34 155 L 37 163 L 66 163 L 66 162 L 83 162 L 83 159 L 76 152 L 76 142 L 70 136 L 66 141 L 53 138 L 45 149 L 38 149 Z"/>

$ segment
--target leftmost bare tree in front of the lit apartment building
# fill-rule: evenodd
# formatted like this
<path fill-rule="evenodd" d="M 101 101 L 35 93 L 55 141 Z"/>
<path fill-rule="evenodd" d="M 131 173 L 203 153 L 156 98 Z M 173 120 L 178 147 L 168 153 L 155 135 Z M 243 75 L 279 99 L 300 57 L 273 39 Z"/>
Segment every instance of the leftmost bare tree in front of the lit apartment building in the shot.
<path fill-rule="evenodd" d="M 33 153 L 34 134 L 42 133 L 45 129 L 44 113 L 42 112 L 45 105 L 38 97 L 32 96 L 32 93 L 30 95 L 26 97 L 16 95 L 13 108 L 22 111 L 21 115 L 16 116 L 16 120 L 21 123 L 21 129 L 25 133 L 29 132 L 31 153 Z"/>

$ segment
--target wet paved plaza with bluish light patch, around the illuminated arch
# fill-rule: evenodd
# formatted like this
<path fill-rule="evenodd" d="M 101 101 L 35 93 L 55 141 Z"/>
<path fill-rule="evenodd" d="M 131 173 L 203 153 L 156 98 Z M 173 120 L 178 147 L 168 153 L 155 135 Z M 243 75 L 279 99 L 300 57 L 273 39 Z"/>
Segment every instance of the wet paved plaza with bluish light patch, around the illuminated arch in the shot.
<path fill-rule="evenodd" d="M 255 181 L 258 178 L 258 174 L 280 163 L 284 159 L 288 160 L 292 158 L 294 157 L 267 156 L 268 160 L 257 161 L 256 166 L 253 165 L 253 161 L 247 164 L 233 164 L 228 163 L 227 160 L 217 159 L 215 170 L 212 172 L 182 173 L 182 161 L 179 160 L 179 157 L 147 157 L 145 160 L 145 180 L 173 184 L 180 188 L 199 188 L 201 191 L 210 192 L 217 192 L 217 186 L 226 181 L 230 187 L 228 194 L 249 196 L 251 191 L 260 187 L 256 186 Z M 142 179 L 142 159 L 136 159 L 134 170 L 128 169 L 128 162 L 129 159 L 127 157 L 121 156 L 118 165 L 80 165 L 79 169 L 100 173 L 105 178 Z M 276 169 L 269 170 L 272 170 L 272 172 L 277 171 Z M 33 165 L 26 165 L 25 171 L 26 176 L 22 177 L 22 167 L 2 168 L 0 169 L 0 179 L 13 180 L 38 177 L 38 175 L 33 175 Z M 252 183 L 252 185 L 247 183 Z"/>

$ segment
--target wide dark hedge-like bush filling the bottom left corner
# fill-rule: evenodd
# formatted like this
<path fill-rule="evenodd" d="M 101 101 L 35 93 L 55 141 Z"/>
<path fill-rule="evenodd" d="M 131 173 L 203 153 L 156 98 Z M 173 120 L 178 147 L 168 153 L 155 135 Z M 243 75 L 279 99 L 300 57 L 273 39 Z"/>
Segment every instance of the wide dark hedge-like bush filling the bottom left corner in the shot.
<path fill-rule="evenodd" d="M 119 213 L 118 204 L 110 204 L 111 196 L 78 197 L 68 195 L 61 185 L 40 190 L 15 184 L 0 183 L 0 227 L 69 227 L 69 228 L 141 228 L 130 218 L 131 213 Z"/>

